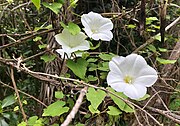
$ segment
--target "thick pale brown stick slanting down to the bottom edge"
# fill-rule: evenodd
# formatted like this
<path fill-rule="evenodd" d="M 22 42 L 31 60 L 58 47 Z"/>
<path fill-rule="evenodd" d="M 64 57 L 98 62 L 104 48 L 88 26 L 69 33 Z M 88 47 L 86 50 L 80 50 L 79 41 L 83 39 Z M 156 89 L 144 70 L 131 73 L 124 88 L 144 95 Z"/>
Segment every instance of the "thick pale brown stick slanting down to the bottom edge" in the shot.
<path fill-rule="evenodd" d="M 84 95 L 87 92 L 88 87 L 84 87 L 81 92 L 80 95 L 76 101 L 76 104 L 74 105 L 73 109 L 71 110 L 71 112 L 69 113 L 69 115 L 67 116 L 66 120 L 61 124 L 61 126 L 68 126 L 70 124 L 70 122 L 72 121 L 72 119 L 74 119 L 76 113 L 79 110 L 79 107 L 81 106 L 81 103 L 83 101 Z"/>

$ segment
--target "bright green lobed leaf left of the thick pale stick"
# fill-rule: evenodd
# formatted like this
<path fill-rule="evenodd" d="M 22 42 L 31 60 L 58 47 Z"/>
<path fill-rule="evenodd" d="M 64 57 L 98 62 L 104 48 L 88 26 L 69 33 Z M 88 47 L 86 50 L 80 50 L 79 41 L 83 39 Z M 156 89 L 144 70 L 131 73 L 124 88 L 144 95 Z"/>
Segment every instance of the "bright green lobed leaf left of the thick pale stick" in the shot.
<path fill-rule="evenodd" d="M 63 101 L 56 101 L 53 104 L 49 105 L 46 109 L 44 109 L 44 113 L 42 116 L 60 116 L 63 113 L 66 113 L 69 111 L 68 107 L 63 107 L 65 105 L 65 102 Z"/>

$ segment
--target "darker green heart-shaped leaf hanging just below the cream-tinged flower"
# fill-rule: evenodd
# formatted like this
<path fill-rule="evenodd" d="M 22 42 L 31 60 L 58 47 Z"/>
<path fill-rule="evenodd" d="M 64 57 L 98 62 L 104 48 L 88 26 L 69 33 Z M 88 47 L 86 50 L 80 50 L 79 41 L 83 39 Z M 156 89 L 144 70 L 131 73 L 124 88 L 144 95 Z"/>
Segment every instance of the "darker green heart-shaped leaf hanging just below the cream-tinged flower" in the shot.
<path fill-rule="evenodd" d="M 77 62 L 74 62 L 71 59 L 67 61 L 67 67 L 71 69 L 73 73 L 81 79 L 85 78 L 87 66 L 88 62 L 83 58 L 78 59 Z"/>

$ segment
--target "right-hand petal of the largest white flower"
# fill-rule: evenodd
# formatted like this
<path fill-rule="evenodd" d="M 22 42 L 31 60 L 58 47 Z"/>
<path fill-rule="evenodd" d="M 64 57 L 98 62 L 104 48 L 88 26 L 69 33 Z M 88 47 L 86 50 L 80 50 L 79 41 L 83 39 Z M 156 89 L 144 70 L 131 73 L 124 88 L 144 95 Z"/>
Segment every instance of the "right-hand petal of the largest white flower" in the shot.
<path fill-rule="evenodd" d="M 147 66 L 139 72 L 138 77 L 135 78 L 134 84 L 150 87 L 157 81 L 157 79 L 158 75 L 156 70 Z"/>

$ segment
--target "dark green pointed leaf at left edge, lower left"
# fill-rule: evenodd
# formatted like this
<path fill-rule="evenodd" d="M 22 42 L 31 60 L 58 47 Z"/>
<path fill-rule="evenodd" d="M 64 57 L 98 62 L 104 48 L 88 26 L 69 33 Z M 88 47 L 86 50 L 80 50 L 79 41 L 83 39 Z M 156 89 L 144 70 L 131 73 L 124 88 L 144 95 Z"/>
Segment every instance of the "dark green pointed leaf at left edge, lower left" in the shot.
<path fill-rule="evenodd" d="M 16 102 L 15 96 L 10 95 L 2 101 L 2 108 L 10 106 Z"/>

